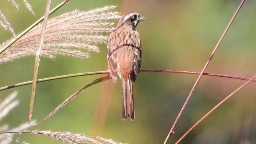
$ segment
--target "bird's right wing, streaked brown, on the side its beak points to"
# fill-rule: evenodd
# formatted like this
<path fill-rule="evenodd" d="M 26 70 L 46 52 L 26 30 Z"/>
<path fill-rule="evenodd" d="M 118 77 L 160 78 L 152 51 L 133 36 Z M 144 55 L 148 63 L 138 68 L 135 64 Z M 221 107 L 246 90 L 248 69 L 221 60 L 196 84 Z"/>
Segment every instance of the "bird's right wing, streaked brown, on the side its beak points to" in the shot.
<path fill-rule="evenodd" d="M 140 73 L 140 61 L 141 61 L 141 41 L 140 41 L 140 36 L 138 32 L 135 32 L 135 48 L 133 48 L 133 54 L 134 54 L 134 59 L 133 59 L 133 76 L 132 76 L 132 82 L 135 82 L 136 77 Z"/>

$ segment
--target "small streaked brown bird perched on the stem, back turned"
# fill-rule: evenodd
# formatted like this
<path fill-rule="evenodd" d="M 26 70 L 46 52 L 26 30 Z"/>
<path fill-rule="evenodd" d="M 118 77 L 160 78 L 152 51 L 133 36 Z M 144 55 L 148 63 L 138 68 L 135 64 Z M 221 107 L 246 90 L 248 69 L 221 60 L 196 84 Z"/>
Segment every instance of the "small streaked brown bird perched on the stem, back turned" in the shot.
<path fill-rule="evenodd" d="M 109 34 L 107 43 L 107 61 L 114 83 L 117 75 L 122 81 L 122 119 L 134 120 L 134 101 L 132 82 L 140 72 L 141 42 L 136 31 L 138 23 L 146 20 L 138 13 L 122 16 L 117 27 Z"/>

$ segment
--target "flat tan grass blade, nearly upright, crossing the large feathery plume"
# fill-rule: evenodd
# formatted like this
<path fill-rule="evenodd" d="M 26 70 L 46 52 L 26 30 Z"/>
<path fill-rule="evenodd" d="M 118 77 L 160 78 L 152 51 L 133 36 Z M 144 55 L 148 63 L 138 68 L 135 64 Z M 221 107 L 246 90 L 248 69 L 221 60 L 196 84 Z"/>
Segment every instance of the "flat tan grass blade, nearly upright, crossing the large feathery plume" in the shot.
<path fill-rule="evenodd" d="M 28 114 L 28 123 L 30 123 L 30 120 L 31 120 L 31 117 L 32 117 L 34 98 L 35 98 L 35 93 L 36 93 L 37 73 L 38 73 L 40 57 L 41 57 L 41 53 L 42 53 L 42 49 L 43 49 L 43 37 L 45 36 L 45 29 L 46 29 L 46 24 L 47 24 L 49 12 L 50 12 L 51 1 L 52 0 L 47 0 L 47 3 L 46 3 L 45 19 L 43 20 L 41 37 L 39 39 L 37 50 L 36 50 L 36 57 L 35 57 L 35 63 L 34 63 L 34 73 L 33 73 L 33 82 L 32 82 L 32 89 L 31 89 L 31 100 L 30 100 L 30 108 L 29 108 L 29 114 Z"/>

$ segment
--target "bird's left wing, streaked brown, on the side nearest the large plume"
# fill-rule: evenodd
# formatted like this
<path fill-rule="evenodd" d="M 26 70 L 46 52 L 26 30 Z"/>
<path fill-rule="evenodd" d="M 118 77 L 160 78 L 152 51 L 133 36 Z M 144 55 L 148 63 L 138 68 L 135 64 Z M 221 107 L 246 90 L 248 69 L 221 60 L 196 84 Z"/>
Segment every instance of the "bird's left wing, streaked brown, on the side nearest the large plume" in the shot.
<path fill-rule="evenodd" d="M 109 67 L 110 74 L 114 82 L 117 80 L 118 65 L 116 63 L 117 54 L 115 51 L 115 43 L 113 42 L 113 37 L 115 36 L 115 31 L 109 34 L 109 39 L 107 42 L 107 64 Z"/>

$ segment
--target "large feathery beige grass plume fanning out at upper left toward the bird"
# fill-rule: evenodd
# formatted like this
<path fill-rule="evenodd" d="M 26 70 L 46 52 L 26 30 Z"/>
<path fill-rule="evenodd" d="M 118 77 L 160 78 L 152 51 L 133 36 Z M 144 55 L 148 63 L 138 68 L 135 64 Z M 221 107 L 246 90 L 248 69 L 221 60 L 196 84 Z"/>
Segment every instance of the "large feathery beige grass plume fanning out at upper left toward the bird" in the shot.
<path fill-rule="evenodd" d="M 74 10 L 49 19 L 46 25 L 42 56 L 55 58 L 58 54 L 88 58 L 89 54 L 79 49 L 100 52 L 97 44 L 106 43 L 107 33 L 113 29 L 114 23 L 109 20 L 120 18 L 119 12 L 109 12 L 115 7 L 105 6 L 88 12 Z M 41 29 L 42 23 L 1 53 L 0 64 L 35 55 Z"/>

